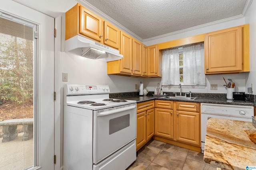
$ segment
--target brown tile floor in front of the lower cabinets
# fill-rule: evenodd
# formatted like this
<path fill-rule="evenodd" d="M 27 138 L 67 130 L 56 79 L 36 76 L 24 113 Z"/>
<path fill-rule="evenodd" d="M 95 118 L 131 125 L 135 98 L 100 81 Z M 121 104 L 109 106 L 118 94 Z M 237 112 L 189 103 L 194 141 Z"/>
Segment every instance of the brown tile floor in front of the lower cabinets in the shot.
<path fill-rule="evenodd" d="M 126 170 L 216 170 L 200 152 L 150 140 L 138 150 L 138 157 Z"/>

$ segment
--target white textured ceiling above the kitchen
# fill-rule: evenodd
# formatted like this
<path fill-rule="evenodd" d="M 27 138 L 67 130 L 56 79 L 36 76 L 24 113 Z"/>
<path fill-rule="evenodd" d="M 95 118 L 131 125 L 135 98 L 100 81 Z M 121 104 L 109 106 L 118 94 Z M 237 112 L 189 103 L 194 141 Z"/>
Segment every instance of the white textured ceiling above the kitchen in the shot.
<path fill-rule="evenodd" d="M 246 0 L 86 0 L 142 39 L 242 14 Z"/>

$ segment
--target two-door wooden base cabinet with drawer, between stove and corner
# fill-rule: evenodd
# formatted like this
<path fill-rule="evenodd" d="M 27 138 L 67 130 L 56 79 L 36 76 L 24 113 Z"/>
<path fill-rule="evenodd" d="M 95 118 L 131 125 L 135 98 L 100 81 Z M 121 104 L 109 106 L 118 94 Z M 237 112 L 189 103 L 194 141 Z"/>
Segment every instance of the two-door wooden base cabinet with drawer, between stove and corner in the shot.
<path fill-rule="evenodd" d="M 137 104 L 136 150 L 154 136 L 154 101 Z"/>

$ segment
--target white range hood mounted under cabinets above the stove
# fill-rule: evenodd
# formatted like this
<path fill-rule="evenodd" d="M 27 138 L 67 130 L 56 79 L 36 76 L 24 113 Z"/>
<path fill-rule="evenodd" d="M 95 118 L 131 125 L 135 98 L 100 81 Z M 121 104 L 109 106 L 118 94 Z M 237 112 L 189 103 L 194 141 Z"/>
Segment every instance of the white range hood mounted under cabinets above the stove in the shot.
<path fill-rule="evenodd" d="M 119 51 L 106 45 L 92 41 L 81 35 L 76 35 L 65 41 L 65 51 L 90 59 L 115 61 L 123 58 Z"/>

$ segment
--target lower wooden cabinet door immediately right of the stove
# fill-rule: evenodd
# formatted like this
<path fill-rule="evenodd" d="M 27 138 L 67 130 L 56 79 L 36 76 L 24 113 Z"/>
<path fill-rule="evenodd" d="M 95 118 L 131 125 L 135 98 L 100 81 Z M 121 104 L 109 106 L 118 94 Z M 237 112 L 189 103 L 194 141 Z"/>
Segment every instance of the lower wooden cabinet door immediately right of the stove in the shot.
<path fill-rule="evenodd" d="M 146 143 L 146 111 L 137 114 L 136 150 Z"/>

